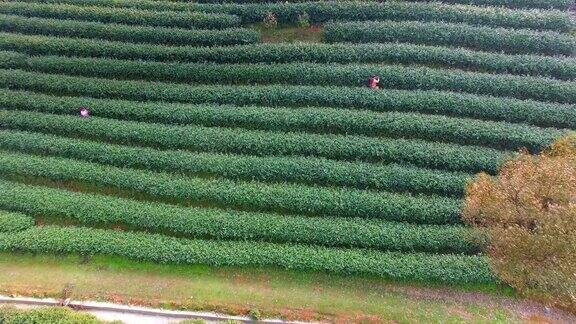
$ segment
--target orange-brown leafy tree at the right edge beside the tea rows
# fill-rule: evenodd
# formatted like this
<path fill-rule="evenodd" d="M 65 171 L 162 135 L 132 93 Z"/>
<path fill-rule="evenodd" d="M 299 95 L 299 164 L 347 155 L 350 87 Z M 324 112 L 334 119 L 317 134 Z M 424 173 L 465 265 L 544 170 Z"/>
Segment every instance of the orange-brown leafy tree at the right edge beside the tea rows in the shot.
<path fill-rule="evenodd" d="M 576 311 L 576 134 L 523 154 L 467 187 L 466 222 L 490 236 L 496 274 L 521 293 Z"/>

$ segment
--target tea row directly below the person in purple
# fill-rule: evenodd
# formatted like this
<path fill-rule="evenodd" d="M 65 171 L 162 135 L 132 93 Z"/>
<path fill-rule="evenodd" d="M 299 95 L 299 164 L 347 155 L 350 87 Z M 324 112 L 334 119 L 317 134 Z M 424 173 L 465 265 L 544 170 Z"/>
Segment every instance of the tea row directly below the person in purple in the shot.
<path fill-rule="evenodd" d="M 168 126 L 92 117 L 0 110 L 0 126 L 101 138 L 165 149 L 258 156 L 310 155 L 336 160 L 400 162 L 452 171 L 495 172 L 506 152 L 448 143 L 317 135 L 203 126 Z"/>

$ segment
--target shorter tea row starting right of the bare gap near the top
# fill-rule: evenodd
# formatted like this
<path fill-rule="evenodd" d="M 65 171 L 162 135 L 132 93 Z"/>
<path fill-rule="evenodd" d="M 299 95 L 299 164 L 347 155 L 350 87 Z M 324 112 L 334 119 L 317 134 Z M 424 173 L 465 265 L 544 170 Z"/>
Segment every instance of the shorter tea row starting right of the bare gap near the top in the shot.
<path fill-rule="evenodd" d="M 417 21 L 338 22 L 326 24 L 327 42 L 407 42 L 468 47 L 510 54 L 573 55 L 576 37 L 554 32 L 476 27 Z"/>

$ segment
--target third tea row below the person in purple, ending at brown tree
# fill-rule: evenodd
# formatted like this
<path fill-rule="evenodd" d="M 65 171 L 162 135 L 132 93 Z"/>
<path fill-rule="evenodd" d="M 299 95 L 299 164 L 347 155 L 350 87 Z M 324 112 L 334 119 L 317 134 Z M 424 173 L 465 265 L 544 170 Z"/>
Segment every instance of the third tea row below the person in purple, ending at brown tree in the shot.
<path fill-rule="evenodd" d="M 72 159 L 2 152 L 0 173 L 131 190 L 184 205 L 282 214 L 378 218 L 418 224 L 459 223 L 460 201 L 351 188 L 202 179 Z"/>

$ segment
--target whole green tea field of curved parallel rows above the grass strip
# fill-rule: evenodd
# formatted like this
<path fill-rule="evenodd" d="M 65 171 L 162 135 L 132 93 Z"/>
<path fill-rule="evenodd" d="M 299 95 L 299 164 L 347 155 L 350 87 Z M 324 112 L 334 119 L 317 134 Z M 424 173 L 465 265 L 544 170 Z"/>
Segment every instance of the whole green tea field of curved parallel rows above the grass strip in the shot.
<path fill-rule="evenodd" d="M 465 183 L 576 130 L 570 5 L 0 2 L 0 250 L 494 283 Z"/>

